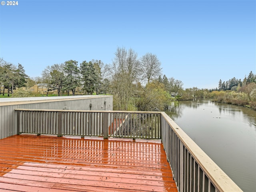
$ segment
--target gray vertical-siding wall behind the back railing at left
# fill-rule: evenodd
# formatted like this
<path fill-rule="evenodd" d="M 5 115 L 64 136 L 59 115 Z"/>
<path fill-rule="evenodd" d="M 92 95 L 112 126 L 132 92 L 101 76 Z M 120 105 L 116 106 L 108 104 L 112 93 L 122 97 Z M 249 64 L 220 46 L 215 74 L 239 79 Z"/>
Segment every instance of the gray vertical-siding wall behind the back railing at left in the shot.
<path fill-rule="evenodd" d="M 106 102 L 105 102 L 106 101 Z M 90 103 L 92 106 L 90 107 Z M 40 101 L 38 103 L 11 104 L 0 106 L 0 139 L 17 134 L 17 112 L 15 109 L 53 109 L 53 110 L 113 110 L 112 96 L 94 96 L 64 101 Z"/>

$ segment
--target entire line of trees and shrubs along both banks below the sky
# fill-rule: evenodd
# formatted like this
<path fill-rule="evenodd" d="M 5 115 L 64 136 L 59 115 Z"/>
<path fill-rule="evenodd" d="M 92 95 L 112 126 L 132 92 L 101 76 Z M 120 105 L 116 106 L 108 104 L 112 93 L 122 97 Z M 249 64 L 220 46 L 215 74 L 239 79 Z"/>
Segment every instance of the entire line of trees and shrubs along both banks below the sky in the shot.
<path fill-rule="evenodd" d="M 244 80 L 232 78 L 219 81 L 216 89 L 183 89 L 181 80 L 162 74 L 161 62 L 152 53 L 141 58 L 132 50 L 118 47 L 112 64 L 101 60 L 68 60 L 62 64 L 47 66 L 42 76 L 29 78 L 21 64 L 15 66 L 0 60 L 0 83 L 12 96 L 33 96 L 29 91 L 18 89 L 41 83 L 46 96 L 52 90 L 58 95 L 111 94 L 114 110 L 162 111 L 174 100 L 212 98 L 214 101 L 250 106 L 256 109 L 256 75 Z M 3 92 L 4 94 L 4 92 Z M 16 94 L 16 95 L 15 95 Z"/>

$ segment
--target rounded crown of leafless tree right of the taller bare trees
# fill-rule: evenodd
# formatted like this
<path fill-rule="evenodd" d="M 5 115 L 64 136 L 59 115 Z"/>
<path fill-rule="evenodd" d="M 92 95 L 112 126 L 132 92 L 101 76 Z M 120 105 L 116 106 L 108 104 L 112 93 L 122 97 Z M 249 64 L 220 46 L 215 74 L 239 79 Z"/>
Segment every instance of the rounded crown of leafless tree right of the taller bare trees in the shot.
<path fill-rule="evenodd" d="M 158 60 L 155 54 L 146 53 L 140 59 L 142 67 L 142 78 L 150 83 L 150 80 L 158 78 L 161 75 L 161 62 Z"/>

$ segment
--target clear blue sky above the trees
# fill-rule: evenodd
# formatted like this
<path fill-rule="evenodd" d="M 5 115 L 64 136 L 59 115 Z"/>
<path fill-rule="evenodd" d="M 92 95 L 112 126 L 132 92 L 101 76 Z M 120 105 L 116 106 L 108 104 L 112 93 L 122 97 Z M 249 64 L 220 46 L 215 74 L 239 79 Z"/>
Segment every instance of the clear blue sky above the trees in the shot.
<path fill-rule="evenodd" d="M 4 0 L 6 2 L 6 0 Z M 30 77 L 66 60 L 151 52 L 184 88 L 256 73 L 255 0 L 18 0 L 0 6 L 0 57 Z"/>

